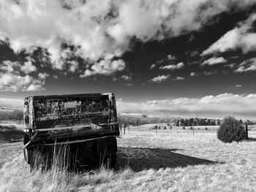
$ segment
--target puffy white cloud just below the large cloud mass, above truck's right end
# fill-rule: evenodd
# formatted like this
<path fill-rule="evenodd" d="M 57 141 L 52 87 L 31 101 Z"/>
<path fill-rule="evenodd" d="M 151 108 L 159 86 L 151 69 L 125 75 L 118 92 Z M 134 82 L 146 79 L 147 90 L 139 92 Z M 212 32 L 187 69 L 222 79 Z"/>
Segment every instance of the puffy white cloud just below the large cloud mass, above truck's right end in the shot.
<path fill-rule="evenodd" d="M 99 61 L 91 66 L 91 69 L 86 69 L 80 77 L 89 77 L 94 74 L 104 74 L 110 75 L 116 72 L 121 72 L 125 69 L 124 61 L 121 59 L 111 61 L 110 59 L 105 59 Z"/>

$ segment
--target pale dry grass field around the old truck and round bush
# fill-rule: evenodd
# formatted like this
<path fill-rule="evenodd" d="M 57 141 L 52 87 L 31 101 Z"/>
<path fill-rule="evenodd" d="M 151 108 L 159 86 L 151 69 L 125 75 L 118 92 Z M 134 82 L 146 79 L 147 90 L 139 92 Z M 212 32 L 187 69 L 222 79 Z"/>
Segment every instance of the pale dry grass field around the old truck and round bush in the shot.
<path fill-rule="evenodd" d="M 22 143 L 1 143 L 0 191 L 256 191 L 256 128 L 222 143 L 216 128 L 131 128 L 118 139 L 116 169 L 30 173 Z"/>

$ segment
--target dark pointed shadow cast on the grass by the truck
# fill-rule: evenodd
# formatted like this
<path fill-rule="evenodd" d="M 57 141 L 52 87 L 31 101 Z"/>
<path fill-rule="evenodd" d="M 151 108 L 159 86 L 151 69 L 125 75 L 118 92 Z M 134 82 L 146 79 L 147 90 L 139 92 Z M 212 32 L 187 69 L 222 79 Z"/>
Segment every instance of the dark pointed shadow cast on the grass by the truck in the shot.
<path fill-rule="evenodd" d="M 178 150 L 179 149 L 118 147 L 116 168 L 120 169 L 129 166 L 133 171 L 140 172 L 143 169 L 176 168 L 189 165 L 223 163 L 173 153 L 173 151 Z"/>

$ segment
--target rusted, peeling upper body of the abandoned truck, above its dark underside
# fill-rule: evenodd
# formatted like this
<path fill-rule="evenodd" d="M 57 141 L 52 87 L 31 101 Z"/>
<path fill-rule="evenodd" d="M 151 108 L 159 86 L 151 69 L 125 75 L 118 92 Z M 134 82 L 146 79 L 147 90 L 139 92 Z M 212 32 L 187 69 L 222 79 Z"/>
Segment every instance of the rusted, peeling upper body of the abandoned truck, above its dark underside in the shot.
<path fill-rule="evenodd" d="M 30 96 L 24 101 L 29 102 L 29 111 L 24 110 L 24 115 L 29 115 L 26 131 L 32 137 L 35 131 L 42 130 L 34 142 L 65 142 L 119 135 L 113 93 Z"/>

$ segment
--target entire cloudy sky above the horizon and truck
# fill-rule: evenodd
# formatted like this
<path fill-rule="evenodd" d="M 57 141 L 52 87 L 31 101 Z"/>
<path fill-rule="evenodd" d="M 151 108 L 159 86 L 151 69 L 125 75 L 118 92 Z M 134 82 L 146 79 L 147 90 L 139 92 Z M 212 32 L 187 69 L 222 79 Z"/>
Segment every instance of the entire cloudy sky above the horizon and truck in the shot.
<path fill-rule="evenodd" d="M 114 92 L 118 112 L 255 118 L 255 8 L 256 0 L 1 0 L 0 101 Z"/>

